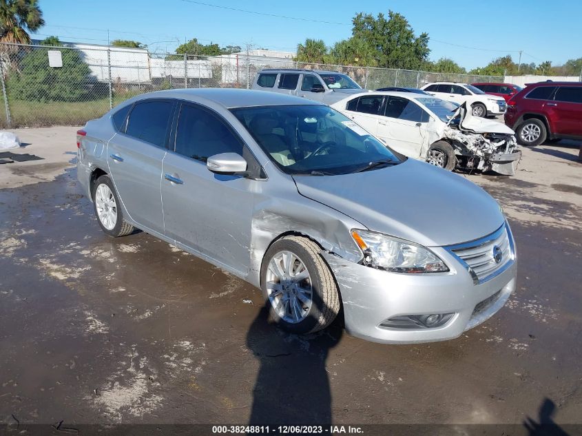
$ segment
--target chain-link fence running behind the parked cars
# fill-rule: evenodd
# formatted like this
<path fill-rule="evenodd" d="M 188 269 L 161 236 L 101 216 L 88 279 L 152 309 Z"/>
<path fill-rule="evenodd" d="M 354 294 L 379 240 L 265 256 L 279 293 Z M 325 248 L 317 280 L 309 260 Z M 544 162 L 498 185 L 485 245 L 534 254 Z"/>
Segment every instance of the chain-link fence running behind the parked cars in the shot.
<path fill-rule="evenodd" d="M 264 52 L 263 52 L 264 53 Z M 501 81 L 496 76 L 298 63 L 242 52 L 223 56 L 76 45 L 0 43 L 0 126 L 83 125 L 127 98 L 156 90 L 249 88 L 263 68 L 344 72 L 364 88 L 419 87 L 431 81 Z"/>

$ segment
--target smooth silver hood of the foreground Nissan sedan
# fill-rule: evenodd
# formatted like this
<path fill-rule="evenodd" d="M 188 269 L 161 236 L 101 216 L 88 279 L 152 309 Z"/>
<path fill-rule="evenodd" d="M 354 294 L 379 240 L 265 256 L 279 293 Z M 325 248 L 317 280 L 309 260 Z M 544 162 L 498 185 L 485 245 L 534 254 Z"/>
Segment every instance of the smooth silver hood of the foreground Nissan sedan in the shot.
<path fill-rule="evenodd" d="M 293 176 L 302 196 L 373 231 L 427 247 L 481 238 L 499 229 L 497 202 L 462 176 L 414 159 L 340 176 Z"/>

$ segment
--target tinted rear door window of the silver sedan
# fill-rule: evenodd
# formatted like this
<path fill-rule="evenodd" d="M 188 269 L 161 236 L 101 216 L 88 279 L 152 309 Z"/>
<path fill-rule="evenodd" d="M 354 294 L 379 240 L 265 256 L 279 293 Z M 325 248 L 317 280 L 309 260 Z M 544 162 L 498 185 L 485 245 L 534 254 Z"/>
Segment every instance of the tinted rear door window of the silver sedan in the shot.
<path fill-rule="evenodd" d="M 169 119 L 173 109 L 174 103 L 170 101 L 136 103 L 129 114 L 125 134 L 158 147 L 165 147 Z"/>

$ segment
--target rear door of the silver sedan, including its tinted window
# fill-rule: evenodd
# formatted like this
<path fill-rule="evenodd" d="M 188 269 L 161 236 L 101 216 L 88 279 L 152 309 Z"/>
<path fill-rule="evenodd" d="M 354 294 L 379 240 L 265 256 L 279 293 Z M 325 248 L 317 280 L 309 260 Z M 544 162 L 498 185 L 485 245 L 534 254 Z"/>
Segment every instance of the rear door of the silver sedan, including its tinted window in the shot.
<path fill-rule="evenodd" d="M 162 160 L 175 103 L 138 101 L 127 126 L 107 145 L 107 163 L 129 218 L 145 230 L 163 233 L 160 194 Z"/>

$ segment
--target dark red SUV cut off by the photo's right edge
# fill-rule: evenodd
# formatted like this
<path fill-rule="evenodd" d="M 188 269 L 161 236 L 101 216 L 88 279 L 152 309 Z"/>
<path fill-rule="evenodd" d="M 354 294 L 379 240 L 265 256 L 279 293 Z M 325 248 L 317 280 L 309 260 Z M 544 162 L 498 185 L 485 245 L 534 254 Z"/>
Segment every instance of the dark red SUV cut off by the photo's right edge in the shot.
<path fill-rule="evenodd" d="M 507 103 L 506 125 L 521 145 L 582 139 L 582 83 L 531 83 Z"/>

